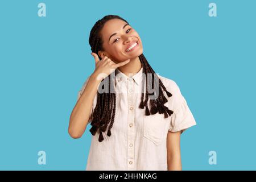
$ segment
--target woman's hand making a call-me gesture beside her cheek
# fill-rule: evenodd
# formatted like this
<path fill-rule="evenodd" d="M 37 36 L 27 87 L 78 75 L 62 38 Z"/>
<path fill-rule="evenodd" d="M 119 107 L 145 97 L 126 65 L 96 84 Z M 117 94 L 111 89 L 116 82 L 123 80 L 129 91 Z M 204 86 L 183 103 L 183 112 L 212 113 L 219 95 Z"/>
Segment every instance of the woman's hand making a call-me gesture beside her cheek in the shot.
<path fill-rule="evenodd" d="M 102 60 L 98 58 L 98 55 L 94 52 L 91 55 L 95 59 L 95 70 L 93 74 L 96 76 L 97 80 L 104 80 L 105 77 L 109 76 L 112 72 L 115 71 L 118 67 L 130 62 L 130 59 L 127 59 L 121 63 L 115 64 L 109 57 L 104 56 Z"/>

